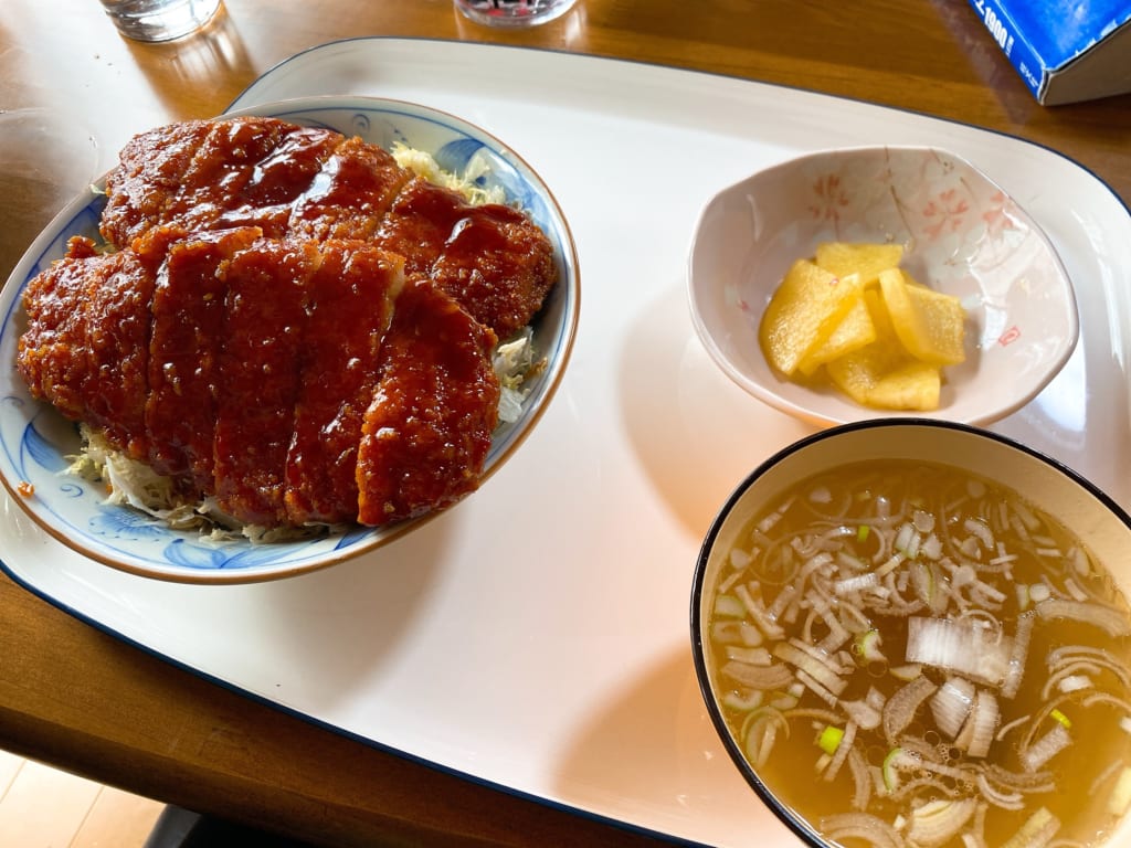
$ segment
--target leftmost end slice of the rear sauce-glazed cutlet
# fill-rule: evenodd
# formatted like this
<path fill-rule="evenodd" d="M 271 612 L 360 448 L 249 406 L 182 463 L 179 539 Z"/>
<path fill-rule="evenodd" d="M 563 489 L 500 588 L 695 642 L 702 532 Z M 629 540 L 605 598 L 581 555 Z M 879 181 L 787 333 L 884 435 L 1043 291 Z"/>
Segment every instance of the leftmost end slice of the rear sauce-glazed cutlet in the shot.
<path fill-rule="evenodd" d="M 119 249 L 146 230 L 164 223 L 170 210 L 179 210 L 185 172 L 210 121 L 183 121 L 158 127 L 131 138 L 118 156 L 118 166 L 106 175 L 106 206 L 100 227 L 103 237 Z"/>

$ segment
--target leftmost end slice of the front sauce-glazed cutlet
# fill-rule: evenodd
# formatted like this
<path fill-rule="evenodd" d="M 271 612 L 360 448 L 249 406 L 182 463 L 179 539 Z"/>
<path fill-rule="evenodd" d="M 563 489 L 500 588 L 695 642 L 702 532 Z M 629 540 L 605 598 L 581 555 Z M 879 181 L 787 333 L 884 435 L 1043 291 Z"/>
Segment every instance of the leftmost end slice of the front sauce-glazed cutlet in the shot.
<path fill-rule="evenodd" d="M 94 242 L 76 236 L 67 256 L 36 275 L 21 296 L 27 329 L 19 337 L 16 367 L 33 397 L 72 421 L 86 414 L 87 289 L 92 279 L 113 274 L 119 261 L 100 257 Z"/>

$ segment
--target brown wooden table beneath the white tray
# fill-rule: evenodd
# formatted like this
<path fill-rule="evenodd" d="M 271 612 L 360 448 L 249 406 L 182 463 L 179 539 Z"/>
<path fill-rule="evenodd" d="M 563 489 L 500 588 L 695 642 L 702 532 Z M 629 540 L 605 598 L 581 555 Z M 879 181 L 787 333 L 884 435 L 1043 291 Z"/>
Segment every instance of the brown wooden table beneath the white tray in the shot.
<path fill-rule="evenodd" d="M 898 106 L 1052 147 L 1131 202 L 1131 96 L 1042 107 L 961 0 L 580 0 L 520 33 L 464 21 L 449 0 L 226 0 L 207 34 L 165 45 L 123 41 L 95 0 L 6 0 L 0 110 L 72 115 L 101 167 L 133 131 L 218 113 L 287 55 L 359 35 L 629 58 Z M 6 193 L 5 276 L 52 202 Z M 330 846 L 653 841 L 249 702 L 7 579 L 0 633 L 0 746 L 103 782 Z"/>

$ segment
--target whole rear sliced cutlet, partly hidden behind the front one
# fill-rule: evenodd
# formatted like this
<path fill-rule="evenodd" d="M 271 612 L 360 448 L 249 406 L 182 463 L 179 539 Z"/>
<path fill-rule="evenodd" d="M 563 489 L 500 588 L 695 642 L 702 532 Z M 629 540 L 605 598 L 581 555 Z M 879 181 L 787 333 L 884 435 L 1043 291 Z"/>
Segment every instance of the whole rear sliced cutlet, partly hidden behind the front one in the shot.
<path fill-rule="evenodd" d="M 102 232 L 119 248 L 162 225 L 373 240 L 503 339 L 530 323 L 558 278 L 550 241 L 521 211 L 473 206 L 360 138 L 269 118 L 143 133 L 106 192 Z"/>

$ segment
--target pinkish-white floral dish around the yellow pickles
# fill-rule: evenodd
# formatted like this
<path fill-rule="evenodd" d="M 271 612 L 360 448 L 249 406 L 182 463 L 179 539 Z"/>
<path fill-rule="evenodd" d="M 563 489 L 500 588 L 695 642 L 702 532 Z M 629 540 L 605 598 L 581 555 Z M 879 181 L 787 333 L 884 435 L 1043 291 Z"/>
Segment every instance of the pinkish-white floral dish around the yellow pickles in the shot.
<path fill-rule="evenodd" d="M 966 360 L 942 371 L 938 409 L 861 406 L 831 384 L 789 381 L 759 346 L 786 270 L 822 242 L 895 243 L 901 267 L 960 298 Z M 880 415 L 987 424 L 1031 400 L 1079 336 L 1072 284 L 1041 227 L 959 156 L 929 147 L 814 153 L 713 197 L 691 245 L 689 297 L 718 366 L 760 400 L 817 425 Z"/>

